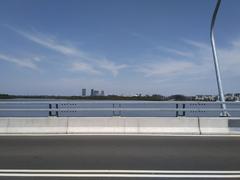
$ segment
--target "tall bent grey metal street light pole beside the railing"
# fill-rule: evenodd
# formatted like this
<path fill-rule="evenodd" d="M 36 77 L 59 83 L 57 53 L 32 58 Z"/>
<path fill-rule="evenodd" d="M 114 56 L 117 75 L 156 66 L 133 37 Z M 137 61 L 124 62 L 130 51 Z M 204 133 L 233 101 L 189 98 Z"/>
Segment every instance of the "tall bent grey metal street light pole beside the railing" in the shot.
<path fill-rule="evenodd" d="M 224 93 L 223 93 L 223 88 L 222 88 L 222 80 L 221 80 L 221 75 L 220 75 L 220 70 L 219 70 L 219 63 L 218 63 L 218 58 L 217 58 L 217 52 L 216 52 L 216 46 L 215 46 L 215 39 L 214 39 L 214 25 L 215 25 L 215 20 L 217 17 L 218 9 L 221 4 L 221 0 L 217 1 L 213 16 L 212 16 L 212 22 L 211 22 L 211 30 L 210 30 L 210 38 L 211 38 L 211 45 L 212 45 L 212 53 L 213 53 L 213 60 L 214 60 L 214 66 L 215 66 L 215 72 L 216 72 L 216 78 L 217 78 L 217 86 L 218 86 L 218 95 L 220 98 L 220 101 L 223 103 L 221 104 L 222 106 L 222 113 L 220 116 L 229 116 L 229 113 L 226 110 L 226 104 L 224 104 L 225 99 L 224 99 Z"/>

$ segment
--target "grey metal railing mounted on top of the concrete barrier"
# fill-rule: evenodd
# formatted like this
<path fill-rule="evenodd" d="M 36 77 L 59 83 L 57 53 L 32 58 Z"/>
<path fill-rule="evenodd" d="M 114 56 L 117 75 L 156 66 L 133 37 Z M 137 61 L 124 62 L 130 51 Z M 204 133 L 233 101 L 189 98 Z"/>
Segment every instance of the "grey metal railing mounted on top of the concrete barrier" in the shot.
<path fill-rule="evenodd" d="M 86 111 L 90 116 L 94 111 L 111 111 L 112 116 L 122 116 L 123 112 L 131 111 L 172 112 L 175 113 L 174 116 L 186 116 L 187 113 L 221 112 L 222 104 L 223 102 L 211 101 L 0 101 L 0 116 L 1 112 L 48 112 L 48 116 L 71 112 L 74 116 L 74 113 Z M 240 102 L 224 104 L 228 107 L 228 112 L 240 114 Z"/>

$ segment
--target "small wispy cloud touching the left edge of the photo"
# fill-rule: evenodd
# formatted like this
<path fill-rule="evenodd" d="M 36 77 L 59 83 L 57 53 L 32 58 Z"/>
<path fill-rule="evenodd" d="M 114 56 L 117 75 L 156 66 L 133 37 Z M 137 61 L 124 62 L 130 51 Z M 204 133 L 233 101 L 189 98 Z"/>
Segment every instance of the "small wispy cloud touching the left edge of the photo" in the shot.
<path fill-rule="evenodd" d="M 19 57 L 12 57 L 12 56 L 0 53 L 0 60 L 14 63 L 20 67 L 29 68 L 32 70 L 38 70 L 39 68 L 36 62 L 39 62 L 40 58 L 39 57 L 19 58 Z"/>

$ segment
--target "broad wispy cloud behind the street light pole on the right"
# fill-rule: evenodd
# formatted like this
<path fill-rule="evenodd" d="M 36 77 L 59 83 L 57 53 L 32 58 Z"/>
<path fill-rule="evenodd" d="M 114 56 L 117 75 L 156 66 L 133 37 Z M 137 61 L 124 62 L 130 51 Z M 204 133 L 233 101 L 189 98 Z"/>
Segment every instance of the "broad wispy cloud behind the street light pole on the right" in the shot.
<path fill-rule="evenodd" d="M 152 57 L 152 63 L 138 67 L 138 72 L 146 77 L 157 77 L 161 80 L 171 80 L 176 77 L 191 77 L 191 79 L 209 78 L 214 76 L 214 65 L 211 46 L 208 43 L 184 39 L 184 47 L 190 54 L 179 49 L 163 48 L 169 52 L 168 57 Z M 224 76 L 240 75 L 240 39 L 229 43 L 226 48 L 217 48 L 220 68 Z M 176 57 L 176 54 L 179 54 Z M 172 78 L 171 78 L 172 77 Z"/>

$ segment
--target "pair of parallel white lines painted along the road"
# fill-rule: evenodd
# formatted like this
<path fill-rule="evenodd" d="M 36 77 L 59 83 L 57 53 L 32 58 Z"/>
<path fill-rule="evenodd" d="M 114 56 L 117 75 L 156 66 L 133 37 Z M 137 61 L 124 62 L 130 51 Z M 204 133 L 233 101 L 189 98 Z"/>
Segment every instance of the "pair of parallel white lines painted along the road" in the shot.
<path fill-rule="evenodd" d="M 0 177 L 240 178 L 240 171 L 0 169 Z"/>

